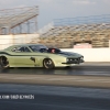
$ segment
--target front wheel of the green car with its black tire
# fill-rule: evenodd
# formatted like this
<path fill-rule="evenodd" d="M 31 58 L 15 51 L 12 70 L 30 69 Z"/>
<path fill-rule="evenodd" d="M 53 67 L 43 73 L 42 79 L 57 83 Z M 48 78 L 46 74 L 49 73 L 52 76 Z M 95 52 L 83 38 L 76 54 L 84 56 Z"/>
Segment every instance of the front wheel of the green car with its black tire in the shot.
<path fill-rule="evenodd" d="M 53 61 L 51 58 L 45 58 L 43 61 L 43 67 L 46 68 L 46 69 L 52 69 L 55 67 Z"/>

